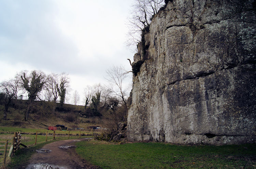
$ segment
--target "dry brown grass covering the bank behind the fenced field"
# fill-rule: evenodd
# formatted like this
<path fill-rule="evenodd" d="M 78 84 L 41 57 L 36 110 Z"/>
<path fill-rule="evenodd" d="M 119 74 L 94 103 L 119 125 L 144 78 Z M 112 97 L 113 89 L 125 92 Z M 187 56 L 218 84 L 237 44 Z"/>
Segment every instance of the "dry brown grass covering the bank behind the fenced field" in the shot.
<path fill-rule="evenodd" d="M 81 107 L 78 108 L 81 109 Z M 101 120 L 99 118 L 82 117 L 77 112 L 73 113 L 55 111 L 53 113 L 43 113 L 34 111 L 29 114 L 28 121 L 23 121 L 24 109 L 18 110 L 12 107 L 9 108 L 9 113 L 7 115 L 8 120 L 3 120 L 1 118 L 3 117 L 3 110 L 4 106 L 0 105 L 0 126 L 3 127 L 46 129 L 48 126 L 56 126 L 59 124 L 71 128 L 86 129 L 88 126 L 102 126 Z"/>

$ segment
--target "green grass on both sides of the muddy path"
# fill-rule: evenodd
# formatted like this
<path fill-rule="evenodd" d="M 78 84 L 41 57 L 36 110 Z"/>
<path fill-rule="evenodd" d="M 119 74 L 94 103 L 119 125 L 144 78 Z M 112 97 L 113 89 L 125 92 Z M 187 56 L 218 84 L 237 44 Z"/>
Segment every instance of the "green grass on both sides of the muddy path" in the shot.
<path fill-rule="evenodd" d="M 39 129 L 5 128 L 1 132 L 34 133 Z M 44 132 L 44 130 L 40 130 Z M 52 132 L 52 131 L 48 131 Z M 64 133 L 67 131 L 58 131 Z M 70 138 L 79 138 L 79 131 Z M 57 133 L 57 131 L 56 131 Z M 0 141 L 11 139 L 13 133 L 1 133 Z M 84 138 L 85 136 L 82 136 Z M 9 167 L 26 166 L 29 157 L 35 149 L 53 142 L 53 136 L 38 135 L 37 145 L 34 145 L 34 134 L 22 134 L 22 143 L 33 145 L 22 148 L 15 153 Z M 56 135 L 56 140 L 67 139 L 68 134 Z M 77 142 L 76 151 L 91 164 L 102 168 L 256 168 L 256 145 L 226 145 L 226 146 L 178 146 L 165 143 L 115 143 L 95 141 Z"/>

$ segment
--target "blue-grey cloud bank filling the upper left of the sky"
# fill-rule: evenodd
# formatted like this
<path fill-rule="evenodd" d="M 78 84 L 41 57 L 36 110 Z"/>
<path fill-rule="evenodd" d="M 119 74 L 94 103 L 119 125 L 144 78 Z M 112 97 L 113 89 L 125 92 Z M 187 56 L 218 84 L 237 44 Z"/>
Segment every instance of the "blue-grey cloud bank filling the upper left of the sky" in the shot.
<path fill-rule="evenodd" d="M 0 2 L 1 60 L 65 70 L 65 62 L 72 62 L 78 51 L 51 18 L 52 5 L 50 1 L 33 0 Z"/>

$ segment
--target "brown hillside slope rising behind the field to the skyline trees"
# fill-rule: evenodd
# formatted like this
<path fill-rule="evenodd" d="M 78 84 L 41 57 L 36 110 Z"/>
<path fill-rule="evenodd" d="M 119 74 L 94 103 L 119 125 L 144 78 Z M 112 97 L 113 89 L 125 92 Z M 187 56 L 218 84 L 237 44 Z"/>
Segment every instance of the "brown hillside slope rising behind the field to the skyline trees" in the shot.
<path fill-rule="evenodd" d="M 0 126 L 3 127 L 21 127 L 21 128 L 47 128 L 48 126 L 64 125 L 70 128 L 86 128 L 90 125 L 98 125 L 97 119 L 86 118 L 84 115 L 84 106 L 75 106 L 64 104 L 60 108 L 58 103 L 46 101 L 35 101 L 29 120 L 23 121 L 24 111 L 26 109 L 26 100 L 14 100 L 7 114 L 8 120 L 0 119 Z M 55 111 L 53 111 L 55 107 Z M 0 117 L 3 117 L 4 105 L 0 103 Z"/>

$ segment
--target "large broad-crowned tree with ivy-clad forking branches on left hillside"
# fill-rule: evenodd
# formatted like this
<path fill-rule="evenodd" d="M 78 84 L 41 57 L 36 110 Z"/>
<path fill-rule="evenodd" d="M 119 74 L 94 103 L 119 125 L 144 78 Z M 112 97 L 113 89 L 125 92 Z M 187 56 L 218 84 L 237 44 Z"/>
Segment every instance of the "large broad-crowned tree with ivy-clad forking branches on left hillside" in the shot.
<path fill-rule="evenodd" d="M 30 74 L 28 71 L 22 71 L 20 75 L 20 84 L 28 92 L 28 107 L 24 114 L 24 120 L 28 120 L 30 107 L 35 99 L 37 99 L 39 93 L 45 87 L 47 78 L 42 71 L 32 71 Z"/>

